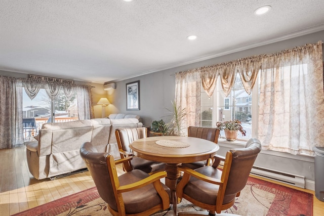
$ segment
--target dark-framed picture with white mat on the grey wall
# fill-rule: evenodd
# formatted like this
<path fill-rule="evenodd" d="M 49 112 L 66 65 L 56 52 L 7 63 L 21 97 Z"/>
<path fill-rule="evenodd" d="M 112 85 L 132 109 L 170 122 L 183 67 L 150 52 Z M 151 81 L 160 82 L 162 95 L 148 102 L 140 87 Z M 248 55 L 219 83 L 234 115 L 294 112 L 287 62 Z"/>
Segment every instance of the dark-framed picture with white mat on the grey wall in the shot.
<path fill-rule="evenodd" d="M 126 83 L 126 110 L 140 110 L 140 81 Z"/>

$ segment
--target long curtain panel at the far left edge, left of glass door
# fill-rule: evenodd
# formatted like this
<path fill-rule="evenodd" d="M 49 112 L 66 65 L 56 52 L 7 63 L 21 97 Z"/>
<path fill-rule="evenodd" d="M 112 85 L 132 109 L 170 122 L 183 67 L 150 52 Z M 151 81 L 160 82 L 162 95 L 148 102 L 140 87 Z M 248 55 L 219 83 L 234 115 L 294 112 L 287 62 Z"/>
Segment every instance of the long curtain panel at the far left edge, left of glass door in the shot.
<path fill-rule="evenodd" d="M 21 81 L 0 77 L 0 149 L 24 144 Z"/>

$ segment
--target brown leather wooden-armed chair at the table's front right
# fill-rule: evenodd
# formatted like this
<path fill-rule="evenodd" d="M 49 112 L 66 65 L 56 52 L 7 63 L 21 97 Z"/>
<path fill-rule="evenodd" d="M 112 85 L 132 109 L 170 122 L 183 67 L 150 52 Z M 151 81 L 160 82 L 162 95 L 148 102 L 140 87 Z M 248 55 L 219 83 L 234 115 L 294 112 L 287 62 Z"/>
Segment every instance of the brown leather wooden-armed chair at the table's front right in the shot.
<path fill-rule="evenodd" d="M 212 166 L 203 166 L 195 170 L 180 166 L 179 169 L 184 172 L 184 175 L 177 185 L 177 197 L 185 198 L 194 205 L 209 210 L 210 215 L 230 208 L 235 202 L 235 197 L 238 197 L 240 191 L 246 186 L 260 151 L 260 141 L 252 139 L 246 148 L 229 150 L 225 158 L 215 156 Z M 219 169 L 221 160 L 224 161 L 224 166 Z M 180 214 L 203 215 L 197 212 Z"/>

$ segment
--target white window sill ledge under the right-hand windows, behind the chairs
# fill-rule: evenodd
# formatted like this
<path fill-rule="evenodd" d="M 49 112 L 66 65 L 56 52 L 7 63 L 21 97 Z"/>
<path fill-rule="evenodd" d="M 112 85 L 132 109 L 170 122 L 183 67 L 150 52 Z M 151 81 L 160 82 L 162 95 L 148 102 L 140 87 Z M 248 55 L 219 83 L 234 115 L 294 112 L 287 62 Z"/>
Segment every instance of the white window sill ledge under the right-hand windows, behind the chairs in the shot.
<path fill-rule="evenodd" d="M 226 148 L 244 148 L 247 141 L 227 141 L 226 139 L 219 138 L 218 139 L 218 145 L 220 147 L 226 147 Z M 271 150 L 261 150 L 260 154 L 267 154 L 277 157 L 285 157 L 285 158 L 291 158 L 295 160 L 302 160 L 302 161 L 308 161 L 308 162 L 314 162 L 313 156 L 306 156 L 306 155 L 293 155 L 286 152 L 277 152 L 277 151 L 271 151 Z"/>

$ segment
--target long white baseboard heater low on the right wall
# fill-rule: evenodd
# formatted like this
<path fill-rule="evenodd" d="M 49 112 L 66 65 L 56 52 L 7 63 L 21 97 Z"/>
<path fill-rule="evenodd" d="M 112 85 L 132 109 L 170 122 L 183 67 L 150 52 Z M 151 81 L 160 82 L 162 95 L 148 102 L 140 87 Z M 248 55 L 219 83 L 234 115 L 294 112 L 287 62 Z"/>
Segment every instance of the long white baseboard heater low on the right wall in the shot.
<path fill-rule="evenodd" d="M 288 185 L 305 188 L 305 177 L 253 166 L 251 174 Z"/>

